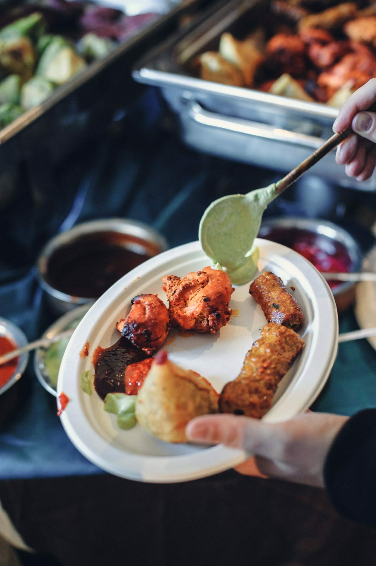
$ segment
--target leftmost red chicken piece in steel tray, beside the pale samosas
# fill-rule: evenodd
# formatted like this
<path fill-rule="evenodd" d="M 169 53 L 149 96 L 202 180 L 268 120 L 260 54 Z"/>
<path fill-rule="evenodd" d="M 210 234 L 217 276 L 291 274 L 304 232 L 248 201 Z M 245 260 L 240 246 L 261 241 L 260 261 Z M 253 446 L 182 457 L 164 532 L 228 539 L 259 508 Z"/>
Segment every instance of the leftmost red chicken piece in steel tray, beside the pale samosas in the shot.
<path fill-rule="evenodd" d="M 305 44 L 297 35 L 278 33 L 266 44 L 268 66 L 289 75 L 301 75 L 305 70 Z"/>

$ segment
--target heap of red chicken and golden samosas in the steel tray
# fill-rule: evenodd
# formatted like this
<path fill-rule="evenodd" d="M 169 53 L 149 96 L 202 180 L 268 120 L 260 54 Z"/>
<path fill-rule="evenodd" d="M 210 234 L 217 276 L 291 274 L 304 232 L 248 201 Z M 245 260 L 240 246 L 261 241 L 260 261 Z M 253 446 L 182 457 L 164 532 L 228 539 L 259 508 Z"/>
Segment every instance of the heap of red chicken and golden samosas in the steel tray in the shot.
<path fill-rule="evenodd" d="M 191 69 L 202 79 L 338 107 L 376 77 L 376 5 L 271 0 L 270 8 Z M 244 27 L 244 25 L 243 25 Z M 252 29 L 253 28 L 253 29 Z"/>

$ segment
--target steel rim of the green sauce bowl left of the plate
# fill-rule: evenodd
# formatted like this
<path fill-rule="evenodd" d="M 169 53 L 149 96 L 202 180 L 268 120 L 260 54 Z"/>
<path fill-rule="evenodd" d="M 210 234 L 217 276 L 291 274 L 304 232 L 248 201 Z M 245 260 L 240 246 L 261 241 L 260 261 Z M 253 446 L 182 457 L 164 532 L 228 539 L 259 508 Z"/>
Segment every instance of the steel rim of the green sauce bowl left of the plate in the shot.
<path fill-rule="evenodd" d="M 88 312 L 89 308 L 93 303 L 87 303 L 86 305 L 81 305 L 80 307 L 74 308 L 71 311 L 66 312 L 63 316 L 60 316 L 58 320 L 55 320 L 53 324 L 44 332 L 41 338 L 53 338 L 59 332 L 68 330 L 68 328 L 73 328 L 75 323 L 79 323 L 83 316 Z M 45 348 L 38 348 L 34 354 L 34 372 L 37 376 L 39 383 L 51 393 L 51 395 L 56 395 L 56 384 L 53 383 L 49 373 L 45 367 Z"/>

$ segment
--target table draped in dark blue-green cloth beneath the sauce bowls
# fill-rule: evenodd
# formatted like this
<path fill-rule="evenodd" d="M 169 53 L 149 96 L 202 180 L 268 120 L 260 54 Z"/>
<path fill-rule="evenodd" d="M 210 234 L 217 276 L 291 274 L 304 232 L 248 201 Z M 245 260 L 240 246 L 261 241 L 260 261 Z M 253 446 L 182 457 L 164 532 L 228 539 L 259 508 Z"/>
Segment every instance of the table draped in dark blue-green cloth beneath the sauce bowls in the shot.
<path fill-rule="evenodd" d="M 212 200 L 275 178 L 190 151 L 167 126 L 158 98 L 147 91 L 126 135 L 114 130 L 100 147 L 85 148 L 69 167 L 55 171 L 44 210 L 48 222 L 38 223 L 28 196 L 0 212 L 1 241 L 22 258 L 2 256 L 1 314 L 19 324 L 28 340 L 53 320 L 33 265 L 60 226 L 129 217 L 153 225 L 172 247 L 197 239 L 201 213 Z M 352 192 L 346 198 L 361 200 Z M 372 203 L 372 196 L 367 199 Z M 268 212 L 304 214 L 287 200 Z M 371 247 L 369 231 L 355 229 L 364 248 Z M 340 317 L 340 332 L 355 328 L 352 311 Z M 312 410 L 351 415 L 375 406 L 375 362 L 367 341 L 341 344 Z M 68 440 L 55 398 L 36 380 L 32 359 L 14 389 L 13 397 L 0 397 L 0 501 L 24 542 L 40 553 L 29 558 L 21 552 L 24 564 L 96 566 L 120 556 L 124 563 L 167 566 L 374 563 L 373 531 L 339 517 L 322 490 L 232 470 L 172 485 L 116 478 L 90 464 Z"/>

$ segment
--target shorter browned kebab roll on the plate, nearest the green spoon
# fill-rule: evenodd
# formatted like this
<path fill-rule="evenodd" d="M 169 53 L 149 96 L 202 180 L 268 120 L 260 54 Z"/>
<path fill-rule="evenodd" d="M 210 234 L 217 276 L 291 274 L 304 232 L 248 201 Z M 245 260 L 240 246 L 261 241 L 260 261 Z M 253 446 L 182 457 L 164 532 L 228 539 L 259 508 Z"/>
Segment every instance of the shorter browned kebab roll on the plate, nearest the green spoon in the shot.
<path fill-rule="evenodd" d="M 268 322 L 283 324 L 299 330 L 304 324 L 304 316 L 299 303 L 292 297 L 282 279 L 271 271 L 266 271 L 250 284 L 249 293 L 261 306 Z"/>

